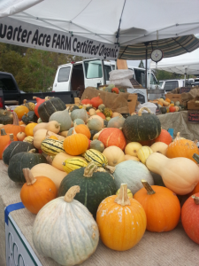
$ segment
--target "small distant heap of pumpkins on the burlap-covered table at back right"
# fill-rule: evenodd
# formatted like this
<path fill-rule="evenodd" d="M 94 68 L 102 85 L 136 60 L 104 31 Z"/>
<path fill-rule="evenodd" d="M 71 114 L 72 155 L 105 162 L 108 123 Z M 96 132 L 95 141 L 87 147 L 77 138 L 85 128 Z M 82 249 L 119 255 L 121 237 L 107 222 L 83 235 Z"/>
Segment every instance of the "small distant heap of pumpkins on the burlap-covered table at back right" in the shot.
<path fill-rule="evenodd" d="M 172 101 L 170 98 L 157 98 L 150 103 L 157 104 L 161 113 L 174 113 L 186 110 L 186 106 L 181 105 L 180 101 Z"/>

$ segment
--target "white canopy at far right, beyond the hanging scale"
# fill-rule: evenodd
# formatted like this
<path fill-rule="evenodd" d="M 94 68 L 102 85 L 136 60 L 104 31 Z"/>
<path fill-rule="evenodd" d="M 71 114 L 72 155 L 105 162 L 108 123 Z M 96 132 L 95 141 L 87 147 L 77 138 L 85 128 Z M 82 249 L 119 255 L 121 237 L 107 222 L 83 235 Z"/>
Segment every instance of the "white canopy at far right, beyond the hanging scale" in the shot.
<path fill-rule="evenodd" d="M 199 49 L 178 57 L 162 59 L 156 63 L 151 60 L 150 68 L 157 68 L 176 74 L 199 74 Z"/>

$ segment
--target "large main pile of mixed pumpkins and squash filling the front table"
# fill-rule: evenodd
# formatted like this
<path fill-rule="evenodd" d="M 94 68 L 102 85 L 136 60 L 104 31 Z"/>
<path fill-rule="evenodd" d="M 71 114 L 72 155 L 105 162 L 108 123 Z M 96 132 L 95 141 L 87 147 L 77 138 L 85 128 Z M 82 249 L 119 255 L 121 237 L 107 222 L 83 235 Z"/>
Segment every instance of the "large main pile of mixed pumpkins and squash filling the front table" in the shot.
<path fill-rule="evenodd" d="M 172 231 L 180 217 L 199 244 L 195 142 L 180 133 L 172 140 L 146 107 L 125 119 L 100 96 L 70 109 L 60 98 L 36 100 L 0 113 L 0 159 L 36 215 L 38 253 L 75 265 L 95 252 L 99 238 L 124 251 L 146 230 Z M 179 195 L 188 196 L 183 207 Z"/>

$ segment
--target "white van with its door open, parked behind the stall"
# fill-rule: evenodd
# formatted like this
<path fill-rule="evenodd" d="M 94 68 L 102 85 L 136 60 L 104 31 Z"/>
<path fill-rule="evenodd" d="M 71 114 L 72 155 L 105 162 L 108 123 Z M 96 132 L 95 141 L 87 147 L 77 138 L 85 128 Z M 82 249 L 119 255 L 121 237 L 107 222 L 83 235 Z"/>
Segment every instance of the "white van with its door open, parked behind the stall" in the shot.
<path fill-rule="evenodd" d="M 133 78 L 145 87 L 145 69 L 128 66 L 134 71 Z M 52 91 L 84 90 L 88 86 L 98 87 L 109 83 L 109 73 L 115 69 L 114 62 L 99 59 L 85 59 L 80 62 L 58 66 Z M 151 72 L 149 89 L 157 88 L 156 76 Z"/>

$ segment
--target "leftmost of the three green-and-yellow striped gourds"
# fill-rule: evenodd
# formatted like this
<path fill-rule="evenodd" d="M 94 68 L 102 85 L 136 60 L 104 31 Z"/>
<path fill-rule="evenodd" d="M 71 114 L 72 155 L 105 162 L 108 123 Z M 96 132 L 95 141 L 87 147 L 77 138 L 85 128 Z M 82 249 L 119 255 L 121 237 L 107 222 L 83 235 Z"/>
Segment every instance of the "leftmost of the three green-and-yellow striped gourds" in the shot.
<path fill-rule="evenodd" d="M 43 153 L 48 155 L 56 155 L 57 153 L 65 153 L 63 141 L 57 139 L 46 138 L 42 140 L 41 149 Z"/>

